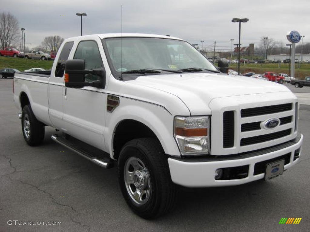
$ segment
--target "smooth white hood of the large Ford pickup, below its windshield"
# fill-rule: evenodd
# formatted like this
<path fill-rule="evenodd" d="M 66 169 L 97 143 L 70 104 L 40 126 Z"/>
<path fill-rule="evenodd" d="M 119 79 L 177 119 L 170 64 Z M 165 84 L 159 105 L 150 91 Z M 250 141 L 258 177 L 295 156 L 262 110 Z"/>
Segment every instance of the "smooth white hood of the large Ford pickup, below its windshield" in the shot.
<path fill-rule="evenodd" d="M 210 101 L 219 97 L 244 95 L 246 98 L 249 94 L 290 92 L 285 86 L 271 81 L 222 73 L 145 75 L 128 82 L 179 97 L 192 115 L 205 113 Z"/>

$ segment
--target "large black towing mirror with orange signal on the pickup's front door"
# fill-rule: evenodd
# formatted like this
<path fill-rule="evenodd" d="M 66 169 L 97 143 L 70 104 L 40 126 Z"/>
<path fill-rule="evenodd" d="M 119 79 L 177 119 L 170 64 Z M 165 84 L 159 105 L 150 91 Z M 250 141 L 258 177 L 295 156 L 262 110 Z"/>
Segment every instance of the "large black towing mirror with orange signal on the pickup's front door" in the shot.
<path fill-rule="evenodd" d="M 85 69 L 85 60 L 67 60 L 64 74 L 64 84 L 69 88 L 82 88 L 84 86 L 93 86 L 105 88 L 105 70 L 104 68 L 87 70 Z M 85 75 L 92 74 L 100 76 L 100 80 L 85 82 Z"/>

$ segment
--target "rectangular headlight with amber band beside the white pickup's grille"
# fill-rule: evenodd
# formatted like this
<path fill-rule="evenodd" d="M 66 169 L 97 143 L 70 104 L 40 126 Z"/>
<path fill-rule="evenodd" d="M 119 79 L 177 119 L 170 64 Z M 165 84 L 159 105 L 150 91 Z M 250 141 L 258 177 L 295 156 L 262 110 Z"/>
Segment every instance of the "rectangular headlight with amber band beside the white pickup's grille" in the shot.
<path fill-rule="evenodd" d="M 183 156 L 210 153 L 210 117 L 175 117 L 175 140 Z"/>

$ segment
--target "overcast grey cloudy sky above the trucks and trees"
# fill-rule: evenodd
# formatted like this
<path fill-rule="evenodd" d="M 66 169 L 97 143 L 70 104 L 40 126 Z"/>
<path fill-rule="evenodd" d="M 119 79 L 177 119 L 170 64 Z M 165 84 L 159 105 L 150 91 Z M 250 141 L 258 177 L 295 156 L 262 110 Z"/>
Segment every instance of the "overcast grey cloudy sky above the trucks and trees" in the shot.
<path fill-rule="evenodd" d="M 310 0 L 1 0 L 1 11 L 10 12 L 26 28 L 26 46 L 39 45 L 46 36 L 121 32 L 169 34 L 204 48 L 230 50 L 238 40 L 232 18 L 249 18 L 241 24 L 241 46 L 259 45 L 261 37 L 288 43 L 286 33 L 296 30 L 310 41 Z M 31 44 L 31 45 L 30 45 Z"/>

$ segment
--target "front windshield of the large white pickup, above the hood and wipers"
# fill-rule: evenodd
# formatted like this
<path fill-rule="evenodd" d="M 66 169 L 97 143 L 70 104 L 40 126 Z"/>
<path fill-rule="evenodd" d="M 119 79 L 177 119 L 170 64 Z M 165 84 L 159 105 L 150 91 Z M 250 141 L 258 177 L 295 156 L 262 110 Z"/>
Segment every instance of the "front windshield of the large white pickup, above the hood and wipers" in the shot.
<path fill-rule="evenodd" d="M 174 73 L 184 69 L 193 71 L 193 68 L 218 72 L 206 57 L 185 41 L 150 37 L 123 37 L 121 40 L 118 37 L 103 39 L 103 45 L 108 51 L 111 70 L 117 74 L 147 69 Z"/>

